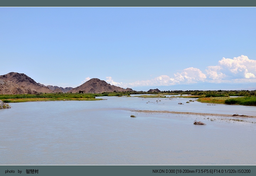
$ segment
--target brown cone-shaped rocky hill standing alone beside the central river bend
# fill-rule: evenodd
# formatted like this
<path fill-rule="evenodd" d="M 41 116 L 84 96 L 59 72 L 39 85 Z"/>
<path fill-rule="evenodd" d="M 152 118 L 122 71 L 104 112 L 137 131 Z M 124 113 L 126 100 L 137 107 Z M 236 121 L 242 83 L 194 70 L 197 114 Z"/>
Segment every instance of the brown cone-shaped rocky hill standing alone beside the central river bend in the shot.
<path fill-rule="evenodd" d="M 71 89 L 69 92 L 77 93 L 79 90 L 84 91 L 84 93 L 102 93 L 102 92 L 125 92 L 133 91 L 130 88 L 124 89 L 114 85 L 108 84 L 106 81 L 102 81 L 98 78 L 92 78 L 86 81 L 81 86 Z"/>

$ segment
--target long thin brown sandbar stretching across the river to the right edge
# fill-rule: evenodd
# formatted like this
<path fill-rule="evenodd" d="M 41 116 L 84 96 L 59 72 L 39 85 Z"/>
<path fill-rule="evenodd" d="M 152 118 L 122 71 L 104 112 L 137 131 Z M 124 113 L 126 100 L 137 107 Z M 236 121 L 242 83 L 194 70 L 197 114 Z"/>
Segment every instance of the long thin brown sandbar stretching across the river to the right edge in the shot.
<path fill-rule="evenodd" d="M 244 117 L 244 118 L 256 118 L 256 116 L 233 116 L 229 114 L 211 114 L 211 113 L 199 113 L 199 112 L 176 112 L 176 111 L 150 111 L 150 110 L 131 110 L 133 112 L 144 112 L 144 113 L 170 113 L 170 114 L 189 114 L 189 115 L 201 115 L 201 116 L 218 116 L 218 117 Z"/>

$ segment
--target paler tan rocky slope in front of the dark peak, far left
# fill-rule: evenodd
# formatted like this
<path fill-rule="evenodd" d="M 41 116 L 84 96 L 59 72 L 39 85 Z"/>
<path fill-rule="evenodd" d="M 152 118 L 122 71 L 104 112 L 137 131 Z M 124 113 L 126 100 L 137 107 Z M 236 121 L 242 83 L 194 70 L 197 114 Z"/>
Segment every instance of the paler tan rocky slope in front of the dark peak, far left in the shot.
<path fill-rule="evenodd" d="M 0 94 L 37 94 L 38 92 L 30 87 L 19 86 L 12 81 L 0 79 Z"/>

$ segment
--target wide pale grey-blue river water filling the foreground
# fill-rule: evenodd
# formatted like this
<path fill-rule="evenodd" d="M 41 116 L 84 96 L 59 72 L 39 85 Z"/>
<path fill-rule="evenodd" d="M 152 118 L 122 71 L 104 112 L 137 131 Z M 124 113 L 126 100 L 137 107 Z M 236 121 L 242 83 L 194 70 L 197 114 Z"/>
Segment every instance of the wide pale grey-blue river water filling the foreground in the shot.
<path fill-rule="evenodd" d="M 11 103 L 11 109 L 0 110 L 0 164 L 256 164 L 256 123 L 250 123 L 255 119 L 210 121 L 207 116 L 129 111 L 255 115 L 256 107 L 186 104 L 185 98 L 104 98 L 108 100 Z M 196 119 L 207 125 L 193 125 Z"/>

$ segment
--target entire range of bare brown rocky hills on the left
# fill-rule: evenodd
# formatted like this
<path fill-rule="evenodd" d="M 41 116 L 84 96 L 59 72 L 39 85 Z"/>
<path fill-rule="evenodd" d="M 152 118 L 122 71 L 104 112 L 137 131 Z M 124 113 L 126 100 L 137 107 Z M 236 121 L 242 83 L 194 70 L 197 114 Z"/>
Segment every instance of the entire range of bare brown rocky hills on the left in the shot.
<path fill-rule="evenodd" d="M 24 73 L 10 72 L 6 75 L 0 75 L 0 94 L 36 94 L 43 93 L 58 93 L 58 92 L 71 92 L 77 93 L 82 91 L 83 93 L 102 93 L 102 92 L 125 92 L 133 91 L 130 88 L 124 89 L 121 87 L 113 86 L 98 78 L 92 78 L 85 82 L 81 86 L 76 88 L 72 87 L 58 87 L 58 86 L 45 86 L 41 83 L 37 83 L 31 77 L 28 77 Z"/>

